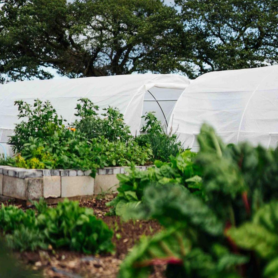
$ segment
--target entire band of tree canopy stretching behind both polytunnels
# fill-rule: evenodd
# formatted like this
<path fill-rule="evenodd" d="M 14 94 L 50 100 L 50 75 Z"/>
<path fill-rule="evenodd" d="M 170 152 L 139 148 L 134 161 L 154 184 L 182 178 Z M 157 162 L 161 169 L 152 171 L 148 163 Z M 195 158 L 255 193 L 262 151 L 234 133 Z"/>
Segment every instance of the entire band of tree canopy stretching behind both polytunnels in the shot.
<path fill-rule="evenodd" d="M 2 0 L 0 83 L 278 62 L 277 0 Z"/>

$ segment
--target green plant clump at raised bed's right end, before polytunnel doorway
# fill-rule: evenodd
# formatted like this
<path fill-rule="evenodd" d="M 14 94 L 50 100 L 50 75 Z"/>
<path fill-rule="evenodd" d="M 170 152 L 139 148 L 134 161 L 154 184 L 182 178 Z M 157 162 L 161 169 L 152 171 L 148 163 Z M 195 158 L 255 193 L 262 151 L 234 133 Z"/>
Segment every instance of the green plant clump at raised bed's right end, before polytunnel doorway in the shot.
<path fill-rule="evenodd" d="M 182 143 L 178 141 L 177 135 L 172 131 L 167 133 L 160 121 L 157 120 L 154 112 L 148 112 L 142 116 L 145 125 L 142 127 L 142 134 L 135 138 L 139 145 L 149 144 L 153 151 L 153 161 L 161 160 L 168 162 L 171 155 L 176 156 L 182 151 Z"/>

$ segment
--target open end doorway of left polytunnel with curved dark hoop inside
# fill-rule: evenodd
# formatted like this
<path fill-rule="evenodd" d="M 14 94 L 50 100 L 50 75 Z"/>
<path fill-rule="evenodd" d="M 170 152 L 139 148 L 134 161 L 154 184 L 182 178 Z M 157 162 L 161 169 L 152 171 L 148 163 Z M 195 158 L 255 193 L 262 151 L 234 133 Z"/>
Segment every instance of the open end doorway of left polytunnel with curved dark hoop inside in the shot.
<path fill-rule="evenodd" d="M 142 116 L 148 112 L 155 112 L 154 115 L 167 129 L 168 125 L 171 125 L 170 116 L 173 108 L 182 92 L 183 90 L 158 87 L 147 90 L 144 95 Z M 143 125 L 145 125 L 144 118 L 141 119 L 140 130 Z"/>

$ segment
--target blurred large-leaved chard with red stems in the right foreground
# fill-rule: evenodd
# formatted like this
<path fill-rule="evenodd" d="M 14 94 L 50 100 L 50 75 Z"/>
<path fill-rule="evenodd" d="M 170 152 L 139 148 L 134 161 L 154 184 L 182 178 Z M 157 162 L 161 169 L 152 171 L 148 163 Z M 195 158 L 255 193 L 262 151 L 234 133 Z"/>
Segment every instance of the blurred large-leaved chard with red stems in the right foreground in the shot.
<path fill-rule="evenodd" d="M 147 187 L 126 217 L 154 218 L 165 230 L 134 248 L 120 278 L 148 277 L 157 264 L 167 264 L 166 277 L 277 277 L 277 150 L 226 146 L 208 125 L 198 141 L 203 195 Z"/>

